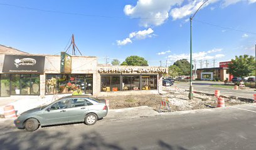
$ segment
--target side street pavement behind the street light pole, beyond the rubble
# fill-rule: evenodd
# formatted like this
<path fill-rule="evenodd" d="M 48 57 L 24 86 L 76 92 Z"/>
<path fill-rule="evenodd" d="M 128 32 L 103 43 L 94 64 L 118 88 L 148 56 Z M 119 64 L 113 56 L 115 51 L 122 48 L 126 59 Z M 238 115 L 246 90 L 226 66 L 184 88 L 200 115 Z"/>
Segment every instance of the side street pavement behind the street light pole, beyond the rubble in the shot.
<path fill-rule="evenodd" d="M 215 93 L 215 90 L 220 90 L 221 95 L 225 96 L 237 96 L 240 98 L 248 98 L 253 99 L 253 94 L 255 92 L 253 89 L 228 89 L 228 88 L 217 88 L 211 85 L 223 85 L 223 82 L 211 82 L 211 81 L 193 81 L 193 88 L 194 91 L 205 91 L 206 93 Z M 189 82 L 188 83 L 174 83 L 172 87 L 177 87 L 181 89 L 188 89 L 189 90 Z"/>

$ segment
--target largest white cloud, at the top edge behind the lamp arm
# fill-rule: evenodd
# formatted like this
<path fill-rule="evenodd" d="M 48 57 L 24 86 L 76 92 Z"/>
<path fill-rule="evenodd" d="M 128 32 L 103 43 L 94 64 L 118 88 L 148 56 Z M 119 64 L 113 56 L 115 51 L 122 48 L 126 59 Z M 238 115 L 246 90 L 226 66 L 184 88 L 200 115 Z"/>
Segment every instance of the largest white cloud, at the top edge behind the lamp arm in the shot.
<path fill-rule="evenodd" d="M 256 2 L 256 0 L 209 0 L 201 9 L 215 2 L 220 2 L 220 6 L 225 8 L 241 1 L 246 1 L 248 4 Z M 205 0 L 137 0 L 135 6 L 126 5 L 124 13 L 132 18 L 140 18 L 141 26 L 160 26 L 170 16 L 173 17 L 173 20 L 176 20 L 194 14 L 203 2 Z M 216 6 L 210 9 L 215 8 Z"/>

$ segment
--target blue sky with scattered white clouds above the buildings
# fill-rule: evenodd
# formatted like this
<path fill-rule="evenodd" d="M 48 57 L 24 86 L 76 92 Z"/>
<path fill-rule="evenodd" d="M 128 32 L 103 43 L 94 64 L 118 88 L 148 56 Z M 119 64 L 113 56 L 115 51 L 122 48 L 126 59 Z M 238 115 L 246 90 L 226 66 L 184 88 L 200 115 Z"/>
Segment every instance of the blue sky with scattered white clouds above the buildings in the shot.
<path fill-rule="evenodd" d="M 83 56 L 99 63 L 142 56 L 150 66 L 189 58 L 193 0 L 0 0 L 0 44 L 33 54 L 60 54 L 72 34 Z M 193 59 L 218 66 L 255 56 L 256 0 L 209 0 L 193 20 Z"/>

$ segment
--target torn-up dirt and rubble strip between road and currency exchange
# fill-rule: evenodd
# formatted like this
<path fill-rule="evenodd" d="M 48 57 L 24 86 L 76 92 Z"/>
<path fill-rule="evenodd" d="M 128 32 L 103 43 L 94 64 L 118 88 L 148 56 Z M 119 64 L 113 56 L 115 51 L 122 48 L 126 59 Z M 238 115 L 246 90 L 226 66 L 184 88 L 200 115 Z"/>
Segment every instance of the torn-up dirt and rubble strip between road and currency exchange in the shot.
<path fill-rule="evenodd" d="M 134 96 L 107 96 L 100 97 L 109 100 L 110 109 L 133 108 L 137 106 L 149 106 L 159 111 L 162 100 L 169 101 L 171 111 L 186 111 L 191 109 L 216 108 L 217 98 L 206 94 L 195 93 L 193 100 L 188 99 L 188 91 L 168 91 L 166 94 L 144 94 Z M 246 104 L 250 101 L 240 101 L 234 98 L 225 98 L 226 106 Z M 161 107 L 164 109 L 164 107 Z"/>

